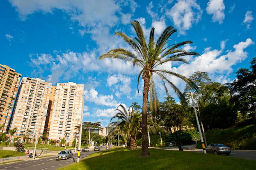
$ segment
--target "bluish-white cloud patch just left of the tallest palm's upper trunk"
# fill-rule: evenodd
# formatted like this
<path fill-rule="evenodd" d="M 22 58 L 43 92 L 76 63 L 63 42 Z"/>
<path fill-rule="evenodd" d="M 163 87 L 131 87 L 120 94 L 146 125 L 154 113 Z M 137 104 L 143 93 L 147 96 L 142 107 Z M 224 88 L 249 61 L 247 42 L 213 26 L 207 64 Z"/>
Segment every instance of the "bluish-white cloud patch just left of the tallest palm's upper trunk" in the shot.
<path fill-rule="evenodd" d="M 127 95 L 130 98 L 131 89 L 131 78 L 129 76 L 114 74 L 108 76 L 107 83 L 109 87 L 113 87 L 113 91 L 116 91 L 115 95 L 120 98 L 122 94 Z"/>

